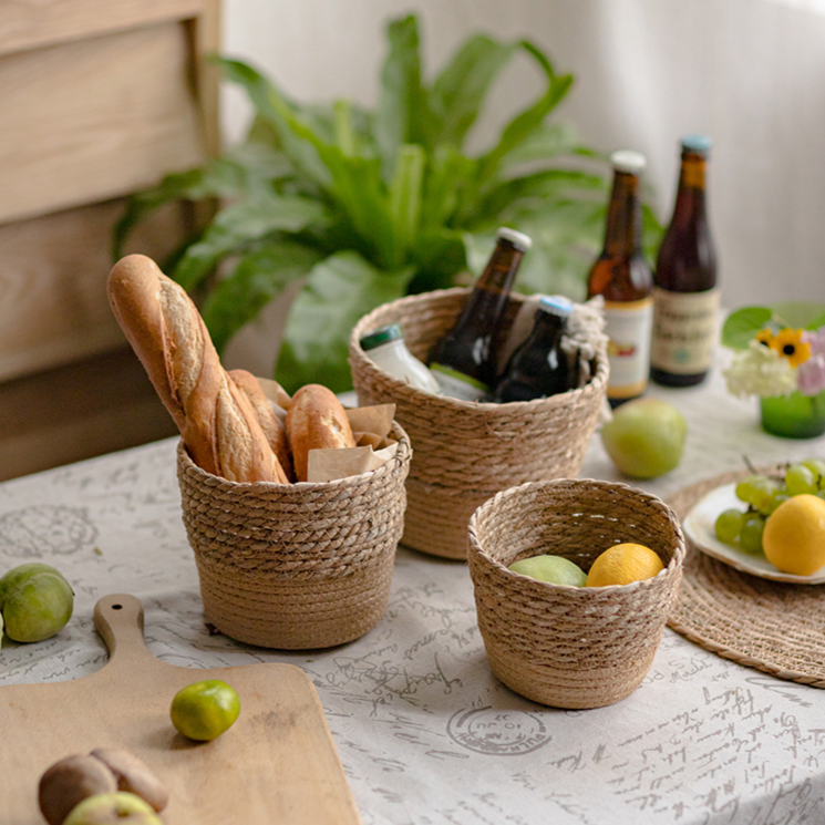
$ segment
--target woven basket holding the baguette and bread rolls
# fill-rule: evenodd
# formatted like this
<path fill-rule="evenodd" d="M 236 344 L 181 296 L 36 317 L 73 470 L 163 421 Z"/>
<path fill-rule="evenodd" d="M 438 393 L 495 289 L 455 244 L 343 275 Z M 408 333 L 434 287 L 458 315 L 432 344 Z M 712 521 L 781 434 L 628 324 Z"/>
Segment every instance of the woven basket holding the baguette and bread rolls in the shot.
<path fill-rule="evenodd" d="M 403 529 L 411 448 L 320 484 L 238 484 L 177 450 L 183 519 L 206 618 L 248 644 L 300 650 L 352 641 L 381 620 Z"/>

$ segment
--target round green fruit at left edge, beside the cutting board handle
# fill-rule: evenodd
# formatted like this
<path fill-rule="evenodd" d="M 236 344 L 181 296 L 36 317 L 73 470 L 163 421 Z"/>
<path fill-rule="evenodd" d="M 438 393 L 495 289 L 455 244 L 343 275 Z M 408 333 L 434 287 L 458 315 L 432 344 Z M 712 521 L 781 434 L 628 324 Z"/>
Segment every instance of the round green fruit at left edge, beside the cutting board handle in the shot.
<path fill-rule="evenodd" d="M 19 565 L 0 578 L 4 632 L 14 641 L 51 638 L 65 627 L 73 609 L 71 585 L 50 565 Z"/>

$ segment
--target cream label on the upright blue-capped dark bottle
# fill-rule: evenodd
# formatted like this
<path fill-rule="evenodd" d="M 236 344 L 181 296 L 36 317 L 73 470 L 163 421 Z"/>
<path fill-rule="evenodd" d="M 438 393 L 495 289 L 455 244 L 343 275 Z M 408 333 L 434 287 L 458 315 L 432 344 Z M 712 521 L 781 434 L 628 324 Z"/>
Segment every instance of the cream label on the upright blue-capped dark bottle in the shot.
<path fill-rule="evenodd" d="M 710 369 L 718 334 L 719 296 L 718 289 L 653 289 L 653 367 L 676 375 L 695 375 Z"/>

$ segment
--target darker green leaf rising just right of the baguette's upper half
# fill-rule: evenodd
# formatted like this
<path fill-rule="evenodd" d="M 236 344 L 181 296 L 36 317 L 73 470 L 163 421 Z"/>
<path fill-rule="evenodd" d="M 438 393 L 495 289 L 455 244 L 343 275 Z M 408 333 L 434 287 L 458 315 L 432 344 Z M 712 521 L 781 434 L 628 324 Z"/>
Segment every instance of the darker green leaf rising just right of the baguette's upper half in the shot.
<path fill-rule="evenodd" d="M 290 283 L 303 278 L 323 256 L 290 240 L 272 240 L 241 256 L 204 303 L 213 342 L 223 352 L 229 339 L 257 318 Z"/>

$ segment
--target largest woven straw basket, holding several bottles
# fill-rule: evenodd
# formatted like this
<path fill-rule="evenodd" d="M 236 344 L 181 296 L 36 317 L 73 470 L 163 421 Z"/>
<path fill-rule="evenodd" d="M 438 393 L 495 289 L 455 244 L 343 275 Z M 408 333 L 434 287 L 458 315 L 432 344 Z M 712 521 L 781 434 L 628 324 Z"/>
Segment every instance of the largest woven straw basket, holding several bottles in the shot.
<path fill-rule="evenodd" d="M 580 390 L 548 399 L 478 404 L 432 395 L 370 360 L 360 338 L 401 323 L 410 351 L 425 359 L 453 324 L 470 293 L 456 288 L 401 298 L 364 316 L 350 337 L 352 381 L 362 405 L 395 404 L 415 455 L 406 481 L 402 543 L 447 558 L 466 558 L 467 523 L 483 502 L 528 481 L 575 477 L 581 468 L 607 386 L 607 354 Z M 524 299 L 513 296 L 513 305 Z"/>

